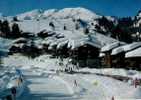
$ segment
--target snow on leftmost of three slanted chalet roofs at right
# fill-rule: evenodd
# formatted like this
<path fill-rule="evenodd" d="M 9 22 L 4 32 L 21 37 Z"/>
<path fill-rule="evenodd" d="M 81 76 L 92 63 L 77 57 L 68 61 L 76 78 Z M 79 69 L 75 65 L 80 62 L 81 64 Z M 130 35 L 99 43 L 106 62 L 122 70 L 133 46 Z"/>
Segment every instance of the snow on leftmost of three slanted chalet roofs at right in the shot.
<path fill-rule="evenodd" d="M 104 47 L 101 48 L 101 52 L 110 51 L 113 48 L 118 47 L 120 45 L 121 45 L 120 42 L 114 42 L 114 43 L 111 43 L 111 44 L 107 44 L 106 46 L 104 46 Z"/>

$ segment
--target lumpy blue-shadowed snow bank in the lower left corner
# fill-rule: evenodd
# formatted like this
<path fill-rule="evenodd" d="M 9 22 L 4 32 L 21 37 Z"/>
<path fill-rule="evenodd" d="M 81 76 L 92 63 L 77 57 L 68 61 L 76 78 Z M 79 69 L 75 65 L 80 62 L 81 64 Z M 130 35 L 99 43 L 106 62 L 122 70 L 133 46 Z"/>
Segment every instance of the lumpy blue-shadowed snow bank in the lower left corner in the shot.
<path fill-rule="evenodd" d="M 19 97 L 23 93 L 25 80 L 23 79 L 23 75 L 20 70 L 4 69 L 4 72 L 1 72 L 0 77 L 0 98 L 10 95 L 10 89 L 13 87 L 15 87 L 17 91 L 16 97 Z"/>

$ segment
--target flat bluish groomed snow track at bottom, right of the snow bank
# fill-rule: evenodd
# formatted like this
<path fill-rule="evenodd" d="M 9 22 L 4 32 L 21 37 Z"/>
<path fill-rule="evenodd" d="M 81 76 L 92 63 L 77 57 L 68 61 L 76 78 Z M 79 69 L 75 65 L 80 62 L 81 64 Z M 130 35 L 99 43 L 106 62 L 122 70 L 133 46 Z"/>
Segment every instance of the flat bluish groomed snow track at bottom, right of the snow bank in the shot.
<path fill-rule="evenodd" d="M 28 89 L 19 100 L 76 100 L 73 90 L 58 76 L 42 76 L 35 72 L 25 72 Z"/>

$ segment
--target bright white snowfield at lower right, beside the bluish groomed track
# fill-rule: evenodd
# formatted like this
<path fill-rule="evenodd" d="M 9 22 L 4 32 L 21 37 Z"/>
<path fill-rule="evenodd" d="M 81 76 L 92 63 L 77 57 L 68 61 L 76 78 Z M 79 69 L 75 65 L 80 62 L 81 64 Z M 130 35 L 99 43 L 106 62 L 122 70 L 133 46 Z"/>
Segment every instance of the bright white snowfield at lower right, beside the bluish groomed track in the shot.
<path fill-rule="evenodd" d="M 78 86 L 74 87 L 77 97 L 82 100 L 111 100 L 116 99 L 140 99 L 140 88 L 134 88 L 128 83 L 124 83 L 112 78 L 97 75 L 63 75 L 62 78 L 69 83 L 77 81 Z M 77 88 L 79 88 L 77 90 Z"/>

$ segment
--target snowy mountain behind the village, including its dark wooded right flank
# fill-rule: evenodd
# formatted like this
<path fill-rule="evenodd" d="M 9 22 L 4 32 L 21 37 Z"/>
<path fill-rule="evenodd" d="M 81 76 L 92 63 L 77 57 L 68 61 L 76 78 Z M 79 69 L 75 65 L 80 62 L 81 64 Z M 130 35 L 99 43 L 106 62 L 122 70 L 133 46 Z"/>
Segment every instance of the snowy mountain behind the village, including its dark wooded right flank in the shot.
<path fill-rule="evenodd" d="M 139 11 L 135 17 L 113 17 L 102 16 L 88 9 L 64 8 L 64 9 L 35 9 L 29 12 L 18 14 L 15 16 L 21 30 L 25 32 L 40 32 L 44 29 L 51 30 L 50 23 L 54 23 L 55 30 L 62 30 L 64 27 L 69 31 L 79 28 L 81 31 L 85 29 L 95 30 L 106 36 L 131 43 L 141 40 L 141 12 Z M 8 21 L 13 22 L 14 16 L 5 17 Z M 33 27 L 28 27 L 33 26 Z M 125 33 L 124 35 L 122 33 Z M 128 39 L 126 39 L 128 37 Z"/>

